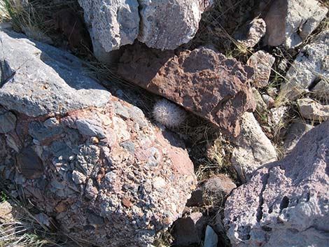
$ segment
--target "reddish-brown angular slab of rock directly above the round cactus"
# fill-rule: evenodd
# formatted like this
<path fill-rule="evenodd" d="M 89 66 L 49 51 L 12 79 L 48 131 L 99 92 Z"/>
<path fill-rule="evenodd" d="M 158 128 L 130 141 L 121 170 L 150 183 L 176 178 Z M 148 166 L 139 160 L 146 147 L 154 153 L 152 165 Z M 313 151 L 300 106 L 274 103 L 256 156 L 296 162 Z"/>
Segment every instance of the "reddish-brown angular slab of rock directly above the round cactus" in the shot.
<path fill-rule="evenodd" d="M 253 70 L 207 48 L 175 55 L 133 45 L 121 57 L 118 73 L 235 136 L 241 115 L 255 108 L 248 86 Z"/>

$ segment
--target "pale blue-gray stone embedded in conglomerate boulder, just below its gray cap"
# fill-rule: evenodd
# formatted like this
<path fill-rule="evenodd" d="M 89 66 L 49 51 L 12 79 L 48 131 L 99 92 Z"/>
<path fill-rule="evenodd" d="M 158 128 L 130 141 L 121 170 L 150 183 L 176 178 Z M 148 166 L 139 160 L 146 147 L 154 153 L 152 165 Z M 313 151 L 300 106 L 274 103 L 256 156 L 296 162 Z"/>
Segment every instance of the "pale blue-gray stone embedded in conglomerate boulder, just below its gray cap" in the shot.
<path fill-rule="evenodd" d="M 97 120 L 79 119 L 76 120 L 76 127 L 80 134 L 85 136 L 96 136 L 99 139 L 104 139 L 106 137 L 102 124 L 97 122 Z"/>

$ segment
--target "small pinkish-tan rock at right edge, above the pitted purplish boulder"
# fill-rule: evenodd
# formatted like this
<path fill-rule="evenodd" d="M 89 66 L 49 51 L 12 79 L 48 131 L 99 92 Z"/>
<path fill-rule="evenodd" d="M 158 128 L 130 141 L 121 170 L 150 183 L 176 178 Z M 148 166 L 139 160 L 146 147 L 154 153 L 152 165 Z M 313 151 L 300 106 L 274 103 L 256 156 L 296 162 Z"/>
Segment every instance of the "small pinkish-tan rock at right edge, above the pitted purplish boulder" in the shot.
<path fill-rule="evenodd" d="M 329 105 L 321 105 L 313 99 L 298 99 L 297 106 L 303 118 L 316 122 L 329 118 Z"/>

